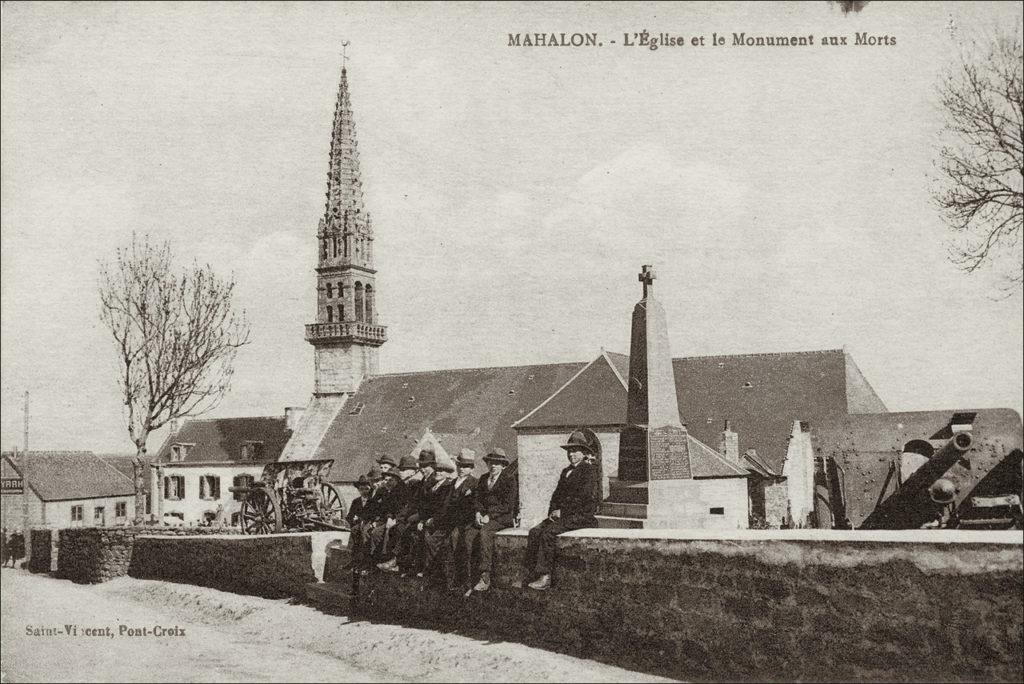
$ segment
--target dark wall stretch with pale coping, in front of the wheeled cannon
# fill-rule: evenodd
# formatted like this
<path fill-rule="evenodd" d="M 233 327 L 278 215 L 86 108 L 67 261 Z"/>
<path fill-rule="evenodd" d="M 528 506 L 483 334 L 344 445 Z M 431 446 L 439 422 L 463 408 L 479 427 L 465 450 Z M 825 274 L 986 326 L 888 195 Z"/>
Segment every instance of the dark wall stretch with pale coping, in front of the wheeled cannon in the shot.
<path fill-rule="evenodd" d="M 259 537 L 144 537 L 129 574 L 267 598 L 304 596 L 316 582 L 308 533 Z"/>

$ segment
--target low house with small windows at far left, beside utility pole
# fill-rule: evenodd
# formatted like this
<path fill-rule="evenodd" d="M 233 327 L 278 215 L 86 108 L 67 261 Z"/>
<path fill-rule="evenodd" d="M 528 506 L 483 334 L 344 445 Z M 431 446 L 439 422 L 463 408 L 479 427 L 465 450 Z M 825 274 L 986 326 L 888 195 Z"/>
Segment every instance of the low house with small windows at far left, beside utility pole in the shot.
<path fill-rule="evenodd" d="M 134 518 L 131 479 L 91 452 L 4 454 L 2 470 L 2 519 L 8 529 L 25 525 L 26 497 L 30 526 L 109 527 Z"/>

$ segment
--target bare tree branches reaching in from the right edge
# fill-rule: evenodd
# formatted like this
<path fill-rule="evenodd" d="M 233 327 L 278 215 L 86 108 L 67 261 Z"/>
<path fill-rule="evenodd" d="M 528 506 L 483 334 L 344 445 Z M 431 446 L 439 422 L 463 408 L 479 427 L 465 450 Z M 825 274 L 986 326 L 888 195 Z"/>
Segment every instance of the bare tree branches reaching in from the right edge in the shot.
<path fill-rule="evenodd" d="M 1024 283 L 1024 95 L 1021 37 L 964 46 L 940 86 L 946 143 L 935 201 L 953 232 L 950 259 L 967 272 L 1006 262 L 1006 290 Z"/>

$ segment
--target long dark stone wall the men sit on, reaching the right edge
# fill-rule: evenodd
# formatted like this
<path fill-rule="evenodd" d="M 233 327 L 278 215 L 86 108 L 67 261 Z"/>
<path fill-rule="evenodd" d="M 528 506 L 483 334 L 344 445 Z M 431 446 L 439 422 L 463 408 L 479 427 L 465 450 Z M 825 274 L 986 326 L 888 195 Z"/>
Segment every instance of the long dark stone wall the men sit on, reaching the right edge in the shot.
<path fill-rule="evenodd" d="M 372 573 L 367 617 L 460 630 L 683 680 L 1021 681 L 1020 532 L 580 530 L 553 589 L 469 599 Z"/>

